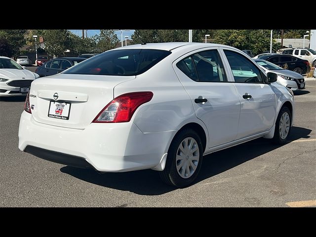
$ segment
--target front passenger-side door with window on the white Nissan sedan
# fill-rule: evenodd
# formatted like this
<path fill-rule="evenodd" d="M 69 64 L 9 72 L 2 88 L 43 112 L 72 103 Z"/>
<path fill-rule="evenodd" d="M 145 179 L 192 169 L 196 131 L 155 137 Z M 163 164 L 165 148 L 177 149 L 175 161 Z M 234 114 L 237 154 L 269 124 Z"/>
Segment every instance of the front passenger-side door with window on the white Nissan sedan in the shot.
<path fill-rule="evenodd" d="M 223 52 L 240 101 L 237 139 L 269 130 L 276 116 L 276 94 L 271 85 L 264 83 L 261 70 L 241 53 L 232 49 Z M 248 71 L 243 74 L 247 76 L 234 75 L 236 68 Z"/>

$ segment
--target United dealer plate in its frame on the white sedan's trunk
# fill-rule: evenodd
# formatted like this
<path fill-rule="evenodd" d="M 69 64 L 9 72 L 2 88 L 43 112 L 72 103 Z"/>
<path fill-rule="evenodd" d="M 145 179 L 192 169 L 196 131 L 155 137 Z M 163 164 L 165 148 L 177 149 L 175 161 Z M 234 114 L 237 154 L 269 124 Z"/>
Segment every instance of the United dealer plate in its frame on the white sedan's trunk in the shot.
<path fill-rule="evenodd" d="M 48 107 L 48 117 L 69 120 L 71 103 L 50 101 Z"/>

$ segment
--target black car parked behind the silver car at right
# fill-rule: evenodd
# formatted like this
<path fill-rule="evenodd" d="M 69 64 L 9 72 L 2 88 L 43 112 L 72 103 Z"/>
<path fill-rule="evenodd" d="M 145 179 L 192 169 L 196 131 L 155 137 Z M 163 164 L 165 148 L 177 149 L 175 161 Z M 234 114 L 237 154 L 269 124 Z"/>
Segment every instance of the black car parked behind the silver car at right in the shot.
<path fill-rule="evenodd" d="M 266 56 L 260 57 L 260 59 L 274 63 L 281 68 L 291 70 L 301 75 L 306 74 L 310 72 L 311 70 L 309 61 L 305 59 L 300 59 L 294 56 L 290 56 L 287 54 L 266 55 Z"/>

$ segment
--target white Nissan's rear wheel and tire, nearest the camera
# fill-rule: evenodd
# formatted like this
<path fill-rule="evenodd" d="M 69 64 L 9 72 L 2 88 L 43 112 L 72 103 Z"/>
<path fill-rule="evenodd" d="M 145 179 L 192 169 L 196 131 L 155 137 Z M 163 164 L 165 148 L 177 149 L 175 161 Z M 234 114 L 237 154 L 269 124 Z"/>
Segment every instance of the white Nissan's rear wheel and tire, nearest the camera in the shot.
<path fill-rule="evenodd" d="M 197 178 L 202 159 L 203 146 L 200 137 L 195 130 L 186 128 L 173 138 L 165 168 L 159 172 L 160 178 L 168 185 L 187 187 Z"/>

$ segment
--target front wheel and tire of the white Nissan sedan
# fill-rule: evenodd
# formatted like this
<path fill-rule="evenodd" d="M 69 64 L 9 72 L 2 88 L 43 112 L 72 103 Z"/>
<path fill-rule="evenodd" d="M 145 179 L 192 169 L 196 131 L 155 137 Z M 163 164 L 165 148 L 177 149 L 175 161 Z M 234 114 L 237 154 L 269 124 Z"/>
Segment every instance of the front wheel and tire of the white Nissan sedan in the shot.
<path fill-rule="evenodd" d="M 276 128 L 273 143 L 285 144 L 291 131 L 291 112 L 287 107 L 282 107 L 276 118 Z"/>

